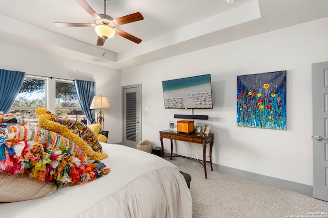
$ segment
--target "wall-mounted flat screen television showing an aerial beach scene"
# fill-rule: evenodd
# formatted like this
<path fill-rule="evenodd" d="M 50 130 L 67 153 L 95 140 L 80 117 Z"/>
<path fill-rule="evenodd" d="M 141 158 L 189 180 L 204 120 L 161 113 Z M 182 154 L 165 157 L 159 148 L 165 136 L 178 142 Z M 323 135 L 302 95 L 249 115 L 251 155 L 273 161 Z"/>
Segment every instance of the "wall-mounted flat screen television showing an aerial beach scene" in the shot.
<path fill-rule="evenodd" d="M 166 109 L 213 108 L 210 74 L 166 80 L 162 86 Z"/>

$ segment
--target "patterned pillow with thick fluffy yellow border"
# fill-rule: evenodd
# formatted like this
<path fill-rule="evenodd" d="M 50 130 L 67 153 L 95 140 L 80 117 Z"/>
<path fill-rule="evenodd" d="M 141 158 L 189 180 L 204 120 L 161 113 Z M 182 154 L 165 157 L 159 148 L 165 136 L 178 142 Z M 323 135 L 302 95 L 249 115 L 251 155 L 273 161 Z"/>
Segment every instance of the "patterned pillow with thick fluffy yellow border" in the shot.
<path fill-rule="evenodd" d="M 101 145 L 97 137 L 84 123 L 70 119 L 61 119 L 45 108 L 35 110 L 40 127 L 58 133 L 73 141 L 93 160 L 103 160 L 108 157 L 101 153 Z"/>

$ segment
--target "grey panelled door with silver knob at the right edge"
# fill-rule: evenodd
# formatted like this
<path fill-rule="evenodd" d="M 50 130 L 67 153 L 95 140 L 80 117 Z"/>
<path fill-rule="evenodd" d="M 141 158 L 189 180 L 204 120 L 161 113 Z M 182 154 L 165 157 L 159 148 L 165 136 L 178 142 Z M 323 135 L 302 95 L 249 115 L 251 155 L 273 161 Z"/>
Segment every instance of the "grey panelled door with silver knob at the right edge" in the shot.
<path fill-rule="evenodd" d="M 312 64 L 313 197 L 328 201 L 328 62 Z"/>

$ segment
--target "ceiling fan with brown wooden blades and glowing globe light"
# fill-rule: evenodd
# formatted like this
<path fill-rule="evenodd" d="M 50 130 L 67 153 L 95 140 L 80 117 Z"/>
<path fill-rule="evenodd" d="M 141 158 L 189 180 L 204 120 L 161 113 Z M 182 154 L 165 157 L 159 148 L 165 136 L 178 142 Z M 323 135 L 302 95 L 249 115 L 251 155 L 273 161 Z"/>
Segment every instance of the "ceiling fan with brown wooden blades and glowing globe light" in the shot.
<path fill-rule="evenodd" d="M 117 34 L 126 39 L 129 39 L 135 43 L 140 43 L 141 39 L 117 29 L 117 26 L 124 25 L 126 23 L 143 20 L 144 17 L 139 13 L 133 13 L 126 16 L 113 19 L 111 16 L 106 15 L 106 2 L 104 1 L 104 14 L 97 14 L 84 0 L 75 0 L 84 10 L 86 10 L 94 19 L 95 23 L 71 23 L 71 22 L 55 22 L 58 27 L 94 27 L 98 34 L 97 45 L 104 45 L 105 40 L 109 39 Z"/>

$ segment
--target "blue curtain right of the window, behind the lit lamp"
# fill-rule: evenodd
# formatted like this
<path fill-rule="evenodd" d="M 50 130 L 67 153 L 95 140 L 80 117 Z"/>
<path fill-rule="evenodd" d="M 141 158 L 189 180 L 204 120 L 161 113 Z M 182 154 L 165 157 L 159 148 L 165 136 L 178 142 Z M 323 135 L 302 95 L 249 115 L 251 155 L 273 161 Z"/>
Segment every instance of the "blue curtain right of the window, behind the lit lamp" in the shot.
<path fill-rule="evenodd" d="M 89 108 L 92 103 L 93 96 L 96 95 L 96 83 L 85 80 L 74 80 L 74 87 L 77 93 L 78 102 L 80 103 L 82 110 L 86 114 L 90 123 L 95 123 L 95 110 Z"/>

